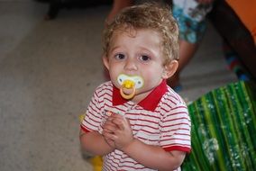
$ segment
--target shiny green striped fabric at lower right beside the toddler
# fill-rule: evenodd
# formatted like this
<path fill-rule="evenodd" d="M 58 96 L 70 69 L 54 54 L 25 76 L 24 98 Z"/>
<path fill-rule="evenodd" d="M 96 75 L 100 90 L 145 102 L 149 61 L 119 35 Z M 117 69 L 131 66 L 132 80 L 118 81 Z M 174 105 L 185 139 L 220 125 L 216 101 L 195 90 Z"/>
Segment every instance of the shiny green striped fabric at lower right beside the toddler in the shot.
<path fill-rule="evenodd" d="M 182 170 L 255 170 L 256 85 L 220 87 L 188 105 L 192 151 Z"/>

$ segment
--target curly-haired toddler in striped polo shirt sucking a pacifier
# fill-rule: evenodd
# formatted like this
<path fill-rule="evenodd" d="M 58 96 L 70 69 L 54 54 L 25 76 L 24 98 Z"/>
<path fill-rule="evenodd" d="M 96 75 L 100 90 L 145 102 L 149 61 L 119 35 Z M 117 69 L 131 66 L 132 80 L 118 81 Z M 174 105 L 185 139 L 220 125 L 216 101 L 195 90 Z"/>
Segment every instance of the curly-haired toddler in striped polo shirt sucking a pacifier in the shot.
<path fill-rule="evenodd" d="M 190 152 L 186 103 L 166 83 L 178 68 L 178 25 L 167 6 L 139 4 L 106 25 L 111 81 L 96 88 L 81 123 L 81 147 L 103 170 L 180 170 Z"/>

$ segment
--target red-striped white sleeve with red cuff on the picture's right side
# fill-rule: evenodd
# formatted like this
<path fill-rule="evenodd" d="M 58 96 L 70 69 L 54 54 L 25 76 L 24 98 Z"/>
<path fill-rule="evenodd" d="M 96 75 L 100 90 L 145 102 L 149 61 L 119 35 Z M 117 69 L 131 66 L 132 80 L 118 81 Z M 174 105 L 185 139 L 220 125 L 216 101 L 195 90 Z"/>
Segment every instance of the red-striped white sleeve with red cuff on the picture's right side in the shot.
<path fill-rule="evenodd" d="M 160 146 L 166 151 L 191 150 L 191 121 L 185 103 L 178 103 L 165 114 L 161 122 Z"/>

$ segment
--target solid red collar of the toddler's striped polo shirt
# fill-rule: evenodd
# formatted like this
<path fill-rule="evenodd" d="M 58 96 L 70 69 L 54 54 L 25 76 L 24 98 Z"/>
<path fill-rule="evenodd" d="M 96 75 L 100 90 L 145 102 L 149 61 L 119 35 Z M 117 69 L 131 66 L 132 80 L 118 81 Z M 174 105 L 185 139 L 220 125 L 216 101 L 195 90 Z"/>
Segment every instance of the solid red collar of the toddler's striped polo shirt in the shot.
<path fill-rule="evenodd" d="M 155 87 L 152 91 L 151 94 L 146 96 L 138 105 L 140 105 L 143 109 L 148 110 L 148 111 L 154 111 L 160 102 L 160 99 L 163 94 L 167 92 L 167 85 L 166 85 L 166 80 L 163 80 L 160 85 Z M 112 103 L 113 105 L 120 105 L 123 103 L 128 102 L 128 100 L 124 99 L 120 92 L 119 89 L 116 88 L 113 85 L 113 97 L 112 97 Z"/>

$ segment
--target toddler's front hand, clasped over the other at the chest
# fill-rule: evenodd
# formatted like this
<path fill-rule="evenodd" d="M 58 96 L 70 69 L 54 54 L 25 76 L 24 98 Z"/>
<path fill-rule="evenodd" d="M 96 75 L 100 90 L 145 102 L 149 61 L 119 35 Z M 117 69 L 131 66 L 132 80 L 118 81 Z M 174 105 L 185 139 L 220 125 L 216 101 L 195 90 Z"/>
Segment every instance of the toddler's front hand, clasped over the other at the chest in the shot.
<path fill-rule="evenodd" d="M 120 114 L 113 114 L 109 120 L 114 123 L 115 127 L 111 127 L 114 133 L 107 134 L 107 138 L 113 139 L 115 148 L 122 150 L 133 141 L 130 122 Z"/>

